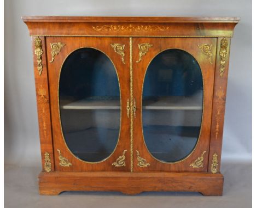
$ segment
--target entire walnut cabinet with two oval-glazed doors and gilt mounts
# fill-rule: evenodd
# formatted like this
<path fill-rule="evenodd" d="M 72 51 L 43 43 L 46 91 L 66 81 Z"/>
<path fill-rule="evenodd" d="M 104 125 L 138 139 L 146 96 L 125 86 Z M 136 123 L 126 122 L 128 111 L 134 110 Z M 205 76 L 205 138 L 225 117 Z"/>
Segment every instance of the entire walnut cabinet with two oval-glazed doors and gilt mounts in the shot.
<path fill-rule="evenodd" d="M 32 37 L 40 194 L 222 195 L 237 17 L 22 17 Z"/>

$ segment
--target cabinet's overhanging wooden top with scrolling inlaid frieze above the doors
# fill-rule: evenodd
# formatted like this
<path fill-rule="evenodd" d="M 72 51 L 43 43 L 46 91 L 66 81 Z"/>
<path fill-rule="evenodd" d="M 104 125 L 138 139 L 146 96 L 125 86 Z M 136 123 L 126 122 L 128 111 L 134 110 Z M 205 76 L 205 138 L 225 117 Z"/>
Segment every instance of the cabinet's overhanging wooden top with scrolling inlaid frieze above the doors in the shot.
<path fill-rule="evenodd" d="M 22 16 L 32 36 L 231 37 L 239 17 Z"/>

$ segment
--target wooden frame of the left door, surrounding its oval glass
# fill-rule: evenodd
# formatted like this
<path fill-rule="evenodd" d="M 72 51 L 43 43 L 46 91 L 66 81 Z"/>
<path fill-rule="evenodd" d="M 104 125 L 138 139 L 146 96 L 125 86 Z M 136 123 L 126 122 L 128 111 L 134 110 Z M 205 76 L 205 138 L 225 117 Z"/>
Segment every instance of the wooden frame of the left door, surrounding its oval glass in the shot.
<path fill-rule="evenodd" d="M 113 47 L 114 44 L 129 45 L 128 38 L 110 38 L 110 37 L 46 37 L 46 53 L 48 60 L 52 59 L 53 48 L 51 44 L 63 43 L 55 54 L 54 61 L 48 64 L 48 79 L 51 102 L 51 123 L 53 129 L 53 150 L 55 169 L 59 171 L 130 171 L 130 143 L 127 138 L 130 132 L 130 121 L 127 118 L 126 102 L 129 99 L 129 62 L 124 62 L 118 48 Z M 106 54 L 112 61 L 120 87 L 120 130 L 118 143 L 114 151 L 105 160 L 100 162 L 86 162 L 76 157 L 71 150 L 68 149 L 61 127 L 60 111 L 59 111 L 59 79 L 62 64 L 73 51 L 83 48 L 95 48 Z M 119 47 L 120 49 L 120 47 Z M 129 54 L 129 47 L 121 48 L 124 54 Z M 125 151 L 126 150 L 126 151 Z M 120 161 L 120 157 L 121 161 Z M 63 166 L 62 160 L 68 161 L 69 165 Z M 114 164 L 117 162 L 119 165 Z M 121 163 L 120 163 L 121 162 Z M 125 164 L 125 165 L 124 165 Z"/>

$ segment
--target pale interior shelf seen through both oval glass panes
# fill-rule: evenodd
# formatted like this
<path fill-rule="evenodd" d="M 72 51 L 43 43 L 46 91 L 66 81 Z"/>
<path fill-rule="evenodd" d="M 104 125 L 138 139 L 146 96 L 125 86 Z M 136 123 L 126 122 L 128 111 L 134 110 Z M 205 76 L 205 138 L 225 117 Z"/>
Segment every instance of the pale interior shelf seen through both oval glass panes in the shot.
<path fill-rule="evenodd" d="M 143 100 L 143 109 L 149 110 L 201 110 L 202 97 L 161 96 Z M 119 100 L 66 100 L 61 109 L 120 109 Z"/>

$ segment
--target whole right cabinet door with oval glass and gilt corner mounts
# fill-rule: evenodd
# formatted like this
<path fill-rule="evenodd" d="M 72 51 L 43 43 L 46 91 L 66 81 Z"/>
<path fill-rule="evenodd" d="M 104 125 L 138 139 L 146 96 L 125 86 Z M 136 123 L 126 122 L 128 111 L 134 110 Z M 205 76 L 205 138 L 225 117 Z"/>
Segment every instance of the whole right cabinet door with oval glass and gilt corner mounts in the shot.
<path fill-rule="evenodd" d="M 207 172 L 216 38 L 133 38 L 133 170 Z"/>

